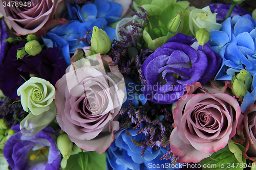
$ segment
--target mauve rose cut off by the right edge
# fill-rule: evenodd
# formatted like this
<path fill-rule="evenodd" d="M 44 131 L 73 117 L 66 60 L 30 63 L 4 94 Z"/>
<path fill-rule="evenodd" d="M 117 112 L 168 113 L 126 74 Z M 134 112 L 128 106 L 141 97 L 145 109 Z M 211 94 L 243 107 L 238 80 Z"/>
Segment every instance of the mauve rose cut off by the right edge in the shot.
<path fill-rule="evenodd" d="M 246 159 L 256 161 L 256 105 L 250 105 L 249 109 L 244 114 L 243 125 L 245 131 L 245 152 L 243 153 Z"/>

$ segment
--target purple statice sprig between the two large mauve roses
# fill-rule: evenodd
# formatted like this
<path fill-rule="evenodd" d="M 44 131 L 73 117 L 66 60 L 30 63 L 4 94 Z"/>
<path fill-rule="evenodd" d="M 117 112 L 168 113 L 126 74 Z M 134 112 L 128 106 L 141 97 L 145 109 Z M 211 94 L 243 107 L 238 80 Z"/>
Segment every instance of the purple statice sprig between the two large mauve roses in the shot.
<path fill-rule="evenodd" d="M 137 134 L 144 134 L 145 139 L 133 141 L 136 145 L 142 147 L 141 155 L 144 154 L 146 146 L 151 148 L 169 146 L 169 136 L 173 128 L 173 115 L 164 105 L 158 105 L 147 101 L 143 106 L 133 106 L 132 100 L 129 105 L 122 108 L 119 114 L 122 114 L 121 127 L 131 127 L 140 129 Z M 125 116 L 124 116 L 125 115 Z M 143 127 L 143 128 L 141 128 Z M 138 144 L 139 143 L 139 144 Z M 163 156 L 168 158 L 167 155 Z M 171 159 L 173 156 L 170 156 Z"/>

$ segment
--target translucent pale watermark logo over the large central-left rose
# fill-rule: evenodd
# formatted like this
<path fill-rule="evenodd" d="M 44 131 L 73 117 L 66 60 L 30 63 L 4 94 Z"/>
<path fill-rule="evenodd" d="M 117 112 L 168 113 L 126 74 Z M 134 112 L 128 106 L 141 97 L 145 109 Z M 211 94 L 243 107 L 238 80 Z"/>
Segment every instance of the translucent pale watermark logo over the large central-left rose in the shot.
<path fill-rule="evenodd" d="M 73 62 L 66 69 L 69 94 L 86 99 L 87 108 L 93 110 L 115 109 L 126 100 L 125 82 L 120 72 L 106 72 L 100 54 Z M 99 112 L 97 111 L 97 114 Z"/>

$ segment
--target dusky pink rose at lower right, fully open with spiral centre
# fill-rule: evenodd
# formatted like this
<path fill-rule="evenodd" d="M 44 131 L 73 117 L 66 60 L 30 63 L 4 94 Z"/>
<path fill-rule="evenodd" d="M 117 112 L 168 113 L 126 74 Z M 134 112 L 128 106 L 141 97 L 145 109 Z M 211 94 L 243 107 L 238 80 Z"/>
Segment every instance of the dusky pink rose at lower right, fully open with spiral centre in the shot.
<path fill-rule="evenodd" d="M 187 94 L 174 109 L 176 128 L 170 134 L 170 149 L 179 156 L 179 163 L 196 163 L 209 157 L 236 134 L 239 103 L 228 94 L 207 89 L 212 91 L 199 82 L 187 86 Z"/>

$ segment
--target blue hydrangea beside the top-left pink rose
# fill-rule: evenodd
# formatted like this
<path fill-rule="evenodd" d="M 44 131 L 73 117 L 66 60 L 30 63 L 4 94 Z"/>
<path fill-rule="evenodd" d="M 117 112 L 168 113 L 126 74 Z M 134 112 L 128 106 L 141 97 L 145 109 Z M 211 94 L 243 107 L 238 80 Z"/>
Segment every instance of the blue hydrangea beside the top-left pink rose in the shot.
<path fill-rule="evenodd" d="M 121 19 L 119 16 L 122 6 L 111 0 L 95 0 L 93 4 L 82 7 L 67 3 L 67 7 L 68 11 L 63 18 L 69 22 L 51 29 L 46 35 L 42 35 L 42 39 L 47 47 L 59 47 L 59 55 L 65 58 L 67 65 L 70 65 L 70 54 L 75 53 L 76 48 L 81 50 L 82 47 L 89 46 L 87 42 L 79 42 L 77 39 L 84 38 L 88 30 L 93 30 L 94 26 L 103 29 L 110 39 L 116 37 L 115 28 L 108 25 Z"/>

